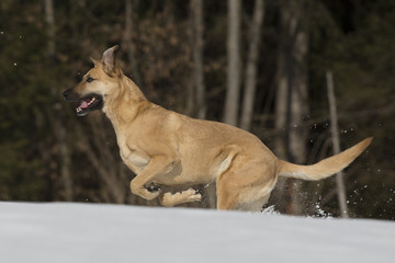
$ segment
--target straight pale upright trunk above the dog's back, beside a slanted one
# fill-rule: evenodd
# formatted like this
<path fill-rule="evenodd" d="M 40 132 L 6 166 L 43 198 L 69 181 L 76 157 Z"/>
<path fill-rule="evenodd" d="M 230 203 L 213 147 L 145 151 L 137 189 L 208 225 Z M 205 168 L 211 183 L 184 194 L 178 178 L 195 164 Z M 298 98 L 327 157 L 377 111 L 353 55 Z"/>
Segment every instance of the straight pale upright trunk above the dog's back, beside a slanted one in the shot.
<path fill-rule="evenodd" d="M 237 125 L 240 93 L 240 0 L 228 0 L 227 91 L 224 122 Z"/>

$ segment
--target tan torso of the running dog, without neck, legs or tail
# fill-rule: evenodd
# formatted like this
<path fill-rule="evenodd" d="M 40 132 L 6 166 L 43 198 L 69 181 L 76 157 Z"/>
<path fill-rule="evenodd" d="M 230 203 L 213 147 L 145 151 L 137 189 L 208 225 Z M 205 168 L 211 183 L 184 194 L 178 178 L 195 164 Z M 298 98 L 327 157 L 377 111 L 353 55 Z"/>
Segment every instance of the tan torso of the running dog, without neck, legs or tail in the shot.
<path fill-rule="evenodd" d="M 155 184 L 211 183 L 230 167 L 236 157 L 247 158 L 249 162 L 275 162 L 274 155 L 256 136 L 242 129 L 194 119 L 150 102 L 144 102 L 142 107 L 144 110 L 132 119 L 113 122 L 113 125 L 121 157 L 136 174 L 144 170 L 153 156 L 174 156 L 180 160 L 171 171 L 156 178 Z M 125 113 L 127 106 L 123 108 Z M 109 117 L 112 119 L 111 115 Z"/>

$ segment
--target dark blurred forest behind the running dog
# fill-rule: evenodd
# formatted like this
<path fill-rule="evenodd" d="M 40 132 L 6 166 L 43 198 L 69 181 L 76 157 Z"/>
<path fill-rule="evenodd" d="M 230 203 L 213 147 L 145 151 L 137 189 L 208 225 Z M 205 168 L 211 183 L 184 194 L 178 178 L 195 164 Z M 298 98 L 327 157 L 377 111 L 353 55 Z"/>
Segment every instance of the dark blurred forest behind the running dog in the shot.
<path fill-rule="evenodd" d="M 395 1 L 2 0 L 0 201 L 158 205 L 131 193 L 101 112 L 77 117 L 60 92 L 108 47 L 153 102 L 257 135 L 280 158 L 373 144 L 345 171 L 350 217 L 395 219 Z M 194 207 L 213 208 L 212 186 Z M 279 182 L 269 205 L 340 216 L 337 183 Z"/>

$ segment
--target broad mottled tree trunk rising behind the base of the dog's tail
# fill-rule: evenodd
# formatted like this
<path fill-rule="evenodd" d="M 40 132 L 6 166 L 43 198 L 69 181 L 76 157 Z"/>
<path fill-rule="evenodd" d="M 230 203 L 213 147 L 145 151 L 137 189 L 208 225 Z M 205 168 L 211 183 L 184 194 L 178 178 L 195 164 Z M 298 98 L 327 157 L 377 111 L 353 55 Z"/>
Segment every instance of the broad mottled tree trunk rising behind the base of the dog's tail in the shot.
<path fill-rule="evenodd" d="M 287 1 L 283 3 L 283 37 L 279 55 L 278 94 L 275 105 L 275 128 L 287 128 L 287 133 L 278 138 L 275 151 L 280 158 L 291 162 L 303 163 L 306 157 L 306 130 L 302 128 L 303 116 L 307 114 L 307 33 L 303 23 L 304 2 Z M 286 211 L 301 215 L 305 207 L 301 202 L 301 183 L 289 181 L 289 205 Z M 279 187 L 284 187 L 284 181 Z M 280 188 L 281 191 L 281 188 Z"/>

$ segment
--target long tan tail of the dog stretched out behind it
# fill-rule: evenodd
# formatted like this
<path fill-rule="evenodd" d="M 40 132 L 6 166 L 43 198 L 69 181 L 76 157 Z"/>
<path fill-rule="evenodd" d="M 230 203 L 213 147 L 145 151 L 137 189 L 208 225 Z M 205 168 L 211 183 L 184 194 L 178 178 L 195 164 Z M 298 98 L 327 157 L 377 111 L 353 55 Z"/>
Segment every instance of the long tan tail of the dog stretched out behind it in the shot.
<path fill-rule="evenodd" d="M 369 137 L 358 145 L 312 165 L 297 165 L 278 159 L 278 175 L 285 178 L 317 181 L 328 178 L 348 167 L 359 155 L 366 149 L 373 137 Z"/>

